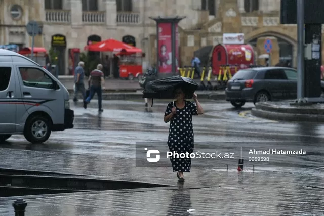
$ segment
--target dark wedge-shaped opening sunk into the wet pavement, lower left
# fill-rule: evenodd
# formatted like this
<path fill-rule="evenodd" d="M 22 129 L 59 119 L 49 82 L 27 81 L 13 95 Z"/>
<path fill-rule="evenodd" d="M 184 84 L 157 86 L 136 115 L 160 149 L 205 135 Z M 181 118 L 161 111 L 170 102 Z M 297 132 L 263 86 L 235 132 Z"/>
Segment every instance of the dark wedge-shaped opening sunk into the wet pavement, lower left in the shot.
<path fill-rule="evenodd" d="M 41 171 L 0 169 L 0 197 L 159 188 L 169 185 L 95 179 Z"/>

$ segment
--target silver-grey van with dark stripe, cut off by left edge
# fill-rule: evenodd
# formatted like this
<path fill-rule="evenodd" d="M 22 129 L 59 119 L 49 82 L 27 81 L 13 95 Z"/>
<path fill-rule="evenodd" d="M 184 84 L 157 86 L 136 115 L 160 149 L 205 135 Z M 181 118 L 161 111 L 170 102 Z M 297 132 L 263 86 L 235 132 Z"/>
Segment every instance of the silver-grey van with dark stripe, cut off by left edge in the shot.
<path fill-rule="evenodd" d="M 69 93 L 49 71 L 18 53 L 0 49 L 0 143 L 23 134 L 31 143 L 73 128 Z"/>

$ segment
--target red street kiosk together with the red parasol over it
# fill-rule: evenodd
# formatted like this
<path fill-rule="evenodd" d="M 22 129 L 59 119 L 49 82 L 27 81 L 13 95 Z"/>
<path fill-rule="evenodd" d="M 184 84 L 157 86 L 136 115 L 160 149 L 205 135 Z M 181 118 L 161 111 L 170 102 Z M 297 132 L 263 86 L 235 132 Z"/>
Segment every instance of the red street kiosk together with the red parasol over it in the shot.
<path fill-rule="evenodd" d="M 85 47 L 87 51 L 94 52 L 109 52 L 110 58 L 113 55 L 119 57 L 119 77 L 128 78 L 130 80 L 134 77 L 139 78 L 142 75 L 142 50 L 115 39 L 107 39 L 97 42 L 93 45 Z M 112 64 L 110 64 L 110 71 L 112 71 Z"/>

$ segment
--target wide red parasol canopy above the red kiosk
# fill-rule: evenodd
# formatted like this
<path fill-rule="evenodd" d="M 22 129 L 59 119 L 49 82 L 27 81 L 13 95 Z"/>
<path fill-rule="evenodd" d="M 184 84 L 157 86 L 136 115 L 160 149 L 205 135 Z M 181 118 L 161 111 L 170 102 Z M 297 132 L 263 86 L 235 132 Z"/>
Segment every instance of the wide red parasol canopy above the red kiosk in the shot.
<path fill-rule="evenodd" d="M 85 46 L 85 50 L 93 52 L 127 52 L 142 53 L 142 50 L 115 39 L 107 39 L 96 44 Z"/>

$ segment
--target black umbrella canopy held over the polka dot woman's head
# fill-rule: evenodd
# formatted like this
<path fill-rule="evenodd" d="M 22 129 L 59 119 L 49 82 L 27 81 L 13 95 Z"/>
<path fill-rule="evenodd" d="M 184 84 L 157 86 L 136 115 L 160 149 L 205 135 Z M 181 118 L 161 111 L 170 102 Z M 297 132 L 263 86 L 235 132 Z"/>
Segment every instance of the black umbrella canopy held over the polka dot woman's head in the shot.
<path fill-rule="evenodd" d="M 143 98 L 174 99 L 174 91 L 182 88 L 186 99 L 191 99 L 198 84 L 191 78 L 171 76 L 150 81 L 143 91 Z"/>

